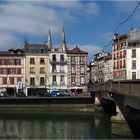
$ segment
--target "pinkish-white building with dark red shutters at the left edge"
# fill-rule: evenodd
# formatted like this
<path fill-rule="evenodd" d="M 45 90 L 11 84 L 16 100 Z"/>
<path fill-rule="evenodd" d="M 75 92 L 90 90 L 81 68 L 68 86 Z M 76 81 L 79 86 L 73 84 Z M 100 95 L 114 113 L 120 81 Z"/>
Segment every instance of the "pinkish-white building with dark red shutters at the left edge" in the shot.
<path fill-rule="evenodd" d="M 21 49 L 0 51 L 0 91 L 14 95 L 25 87 L 25 55 Z"/>

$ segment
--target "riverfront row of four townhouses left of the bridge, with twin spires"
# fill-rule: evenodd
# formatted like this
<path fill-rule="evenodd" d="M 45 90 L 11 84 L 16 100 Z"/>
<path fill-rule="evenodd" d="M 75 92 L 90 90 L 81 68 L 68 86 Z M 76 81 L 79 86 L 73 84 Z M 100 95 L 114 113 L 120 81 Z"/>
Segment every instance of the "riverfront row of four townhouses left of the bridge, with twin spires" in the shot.
<path fill-rule="evenodd" d="M 10 94 L 23 89 L 26 95 L 37 95 L 43 89 L 80 87 L 87 93 L 87 55 L 79 47 L 69 49 L 64 29 L 58 48 L 52 47 L 51 32 L 46 44 L 30 44 L 23 49 L 0 52 L 0 90 Z"/>

